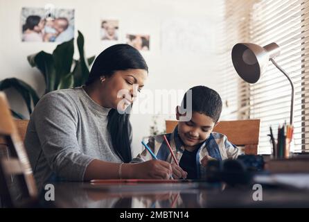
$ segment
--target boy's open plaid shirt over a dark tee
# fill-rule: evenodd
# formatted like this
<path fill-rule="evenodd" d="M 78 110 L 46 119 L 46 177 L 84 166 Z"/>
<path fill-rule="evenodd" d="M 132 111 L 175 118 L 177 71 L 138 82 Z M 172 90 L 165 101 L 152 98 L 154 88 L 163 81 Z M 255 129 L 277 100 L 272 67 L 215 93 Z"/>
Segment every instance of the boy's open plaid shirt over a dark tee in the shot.
<path fill-rule="evenodd" d="M 180 162 L 182 153 L 184 153 L 184 144 L 182 144 L 178 135 L 177 127 L 173 133 L 166 134 L 166 138 L 170 143 L 177 161 Z M 170 150 L 164 141 L 163 135 L 150 137 L 148 146 L 152 149 L 152 152 L 157 155 L 159 160 L 164 160 L 170 163 L 175 162 L 172 155 L 170 155 Z M 225 135 L 212 132 L 208 139 L 201 144 L 196 155 L 197 176 L 199 178 L 205 177 L 206 169 L 202 166 L 201 160 L 206 155 L 209 155 L 216 160 L 236 159 L 238 157 L 238 148 L 231 144 Z M 147 160 L 152 160 L 152 156 L 145 149 L 142 153 L 137 155 L 132 162 L 144 162 Z"/>

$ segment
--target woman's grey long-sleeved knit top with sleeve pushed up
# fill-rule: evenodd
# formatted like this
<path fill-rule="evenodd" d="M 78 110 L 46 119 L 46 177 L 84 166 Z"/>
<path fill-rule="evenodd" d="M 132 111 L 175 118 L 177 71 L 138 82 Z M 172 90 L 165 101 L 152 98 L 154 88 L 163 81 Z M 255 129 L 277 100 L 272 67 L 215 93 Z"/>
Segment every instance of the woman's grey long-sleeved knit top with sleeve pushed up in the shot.
<path fill-rule="evenodd" d="M 38 189 L 48 180 L 83 180 L 94 159 L 122 162 L 107 130 L 109 110 L 82 87 L 49 92 L 39 100 L 25 138 Z"/>

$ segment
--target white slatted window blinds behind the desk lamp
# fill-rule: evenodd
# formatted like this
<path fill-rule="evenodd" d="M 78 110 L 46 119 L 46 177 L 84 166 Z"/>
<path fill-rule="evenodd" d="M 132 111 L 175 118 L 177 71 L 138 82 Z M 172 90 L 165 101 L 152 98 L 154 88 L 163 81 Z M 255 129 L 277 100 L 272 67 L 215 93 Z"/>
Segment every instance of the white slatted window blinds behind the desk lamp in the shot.
<path fill-rule="evenodd" d="M 289 122 L 290 83 L 272 62 L 258 83 L 243 83 L 233 69 L 231 49 L 237 42 L 261 46 L 271 42 L 279 44 L 281 55 L 274 60 L 292 78 L 295 89 L 292 149 L 294 152 L 309 151 L 308 21 L 309 2 L 304 0 L 226 1 L 226 50 L 222 59 L 227 61 L 224 65 L 227 83 L 224 83 L 222 97 L 238 112 L 237 117 L 233 112 L 225 116 L 261 119 L 259 154 L 270 153 L 269 127 L 276 132 L 279 124 Z M 233 87 L 228 86 L 229 82 L 234 83 Z"/>

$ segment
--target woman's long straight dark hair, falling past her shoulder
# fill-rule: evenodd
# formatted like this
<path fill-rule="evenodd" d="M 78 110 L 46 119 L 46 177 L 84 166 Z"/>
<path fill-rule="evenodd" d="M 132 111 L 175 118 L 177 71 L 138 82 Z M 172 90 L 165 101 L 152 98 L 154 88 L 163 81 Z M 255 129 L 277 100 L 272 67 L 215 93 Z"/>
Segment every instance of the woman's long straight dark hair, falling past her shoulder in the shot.
<path fill-rule="evenodd" d="M 105 49 L 94 61 L 86 85 L 94 83 L 100 76 L 112 76 L 115 71 L 127 69 L 144 69 L 148 66 L 137 49 L 128 44 L 115 44 Z M 123 162 L 130 162 L 132 127 L 130 114 L 119 114 L 112 109 L 108 114 L 107 129 L 112 137 L 112 144 Z"/>

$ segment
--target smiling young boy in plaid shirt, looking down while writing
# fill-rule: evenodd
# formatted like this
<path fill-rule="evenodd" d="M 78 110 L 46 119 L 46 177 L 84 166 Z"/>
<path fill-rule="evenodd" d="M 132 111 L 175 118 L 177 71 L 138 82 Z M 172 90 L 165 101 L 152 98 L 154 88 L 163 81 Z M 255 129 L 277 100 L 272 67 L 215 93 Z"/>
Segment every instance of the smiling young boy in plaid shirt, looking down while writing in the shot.
<path fill-rule="evenodd" d="M 188 92 L 182 100 L 182 107 L 192 110 L 191 119 L 179 121 L 174 132 L 166 134 L 177 162 L 179 162 L 179 167 L 170 155 L 164 135 L 150 137 L 148 142 L 148 146 L 159 160 L 165 160 L 172 164 L 173 178 L 175 179 L 204 178 L 208 160 L 236 159 L 238 157 L 238 148 L 231 144 L 225 135 L 212 132 L 222 111 L 222 100 L 218 92 L 209 87 L 195 86 L 191 88 L 191 93 L 192 108 L 186 107 Z M 186 113 L 181 114 L 179 110 L 180 107 L 177 106 L 177 120 L 186 115 Z M 152 160 L 152 156 L 145 149 L 132 162 L 147 160 Z"/>

